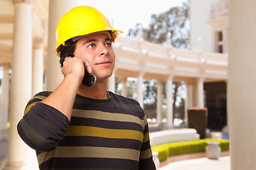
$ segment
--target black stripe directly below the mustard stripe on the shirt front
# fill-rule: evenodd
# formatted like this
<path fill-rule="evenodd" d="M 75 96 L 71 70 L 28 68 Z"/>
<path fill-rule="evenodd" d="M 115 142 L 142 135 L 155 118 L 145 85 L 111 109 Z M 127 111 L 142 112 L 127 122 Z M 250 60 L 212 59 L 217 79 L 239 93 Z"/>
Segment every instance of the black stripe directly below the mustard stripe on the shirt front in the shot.
<path fill-rule="evenodd" d="M 59 142 L 58 146 L 114 147 L 140 150 L 142 147 L 142 142 L 140 142 L 139 140 L 110 139 L 105 137 L 65 136 L 63 140 Z"/>

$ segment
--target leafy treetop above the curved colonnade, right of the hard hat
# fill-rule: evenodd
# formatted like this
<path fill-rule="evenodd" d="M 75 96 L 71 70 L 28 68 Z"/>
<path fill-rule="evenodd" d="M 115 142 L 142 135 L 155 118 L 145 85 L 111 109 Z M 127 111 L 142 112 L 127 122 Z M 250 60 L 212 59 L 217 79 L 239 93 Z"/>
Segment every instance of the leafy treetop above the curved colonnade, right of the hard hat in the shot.
<path fill-rule="evenodd" d="M 188 1 L 183 2 L 183 6 L 170 8 L 169 11 L 153 14 L 148 28 L 142 28 L 144 40 L 157 44 L 166 44 L 167 33 L 171 33 L 171 44 L 174 47 L 188 48 Z M 140 23 L 134 29 L 129 29 L 128 35 L 136 37 L 138 35 Z"/>

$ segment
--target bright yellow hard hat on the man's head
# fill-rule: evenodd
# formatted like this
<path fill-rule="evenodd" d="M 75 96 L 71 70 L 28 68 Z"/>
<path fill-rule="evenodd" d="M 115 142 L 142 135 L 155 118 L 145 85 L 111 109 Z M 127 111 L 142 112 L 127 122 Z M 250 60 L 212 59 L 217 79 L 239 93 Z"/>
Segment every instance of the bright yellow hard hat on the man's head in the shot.
<path fill-rule="evenodd" d="M 58 22 L 55 31 L 57 42 L 55 50 L 60 45 L 65 45 L 65 41 L 70 38 L 104 30 L 110 30 L 112 32 L 112 42 L 114 42 L 119 33 L 122 33 L 120 30 L 114 30 L 114 28 L 110 26 L 110 22 L 107 18 L 97 11 L 97 9 L 90 6 L 77 6 L 72 8 L 68 13 L 65 13 Z"/>

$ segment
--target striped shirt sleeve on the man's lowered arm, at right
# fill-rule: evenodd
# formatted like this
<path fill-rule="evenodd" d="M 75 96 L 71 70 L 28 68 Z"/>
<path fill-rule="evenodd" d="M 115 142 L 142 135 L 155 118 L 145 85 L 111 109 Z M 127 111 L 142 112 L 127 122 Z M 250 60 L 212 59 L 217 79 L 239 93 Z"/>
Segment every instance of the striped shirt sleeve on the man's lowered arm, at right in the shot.
<path fill-rule="evenodd" d="M 144 139 L 142 142 L 142 148 L 139 156 L 139 170 L 155 170 L 156 166 L 153 161 L 150 140 L 149 140 L 149 125 L 144 117 Z"/>

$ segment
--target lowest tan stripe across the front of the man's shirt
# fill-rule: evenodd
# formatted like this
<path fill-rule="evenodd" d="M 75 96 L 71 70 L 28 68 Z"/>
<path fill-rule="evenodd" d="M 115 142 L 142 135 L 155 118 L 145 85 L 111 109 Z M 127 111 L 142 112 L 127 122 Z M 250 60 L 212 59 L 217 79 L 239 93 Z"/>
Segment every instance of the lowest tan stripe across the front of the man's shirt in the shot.
<path fill-rule="evenodd" d="M 139 161 L 139 151 L 135 149 L 107 147 L 56 147 L 53 152 L 42 152 L 38 154 L 38 164 L 42 164 L 53 157 L 91 157 Z"/>

